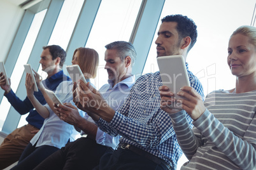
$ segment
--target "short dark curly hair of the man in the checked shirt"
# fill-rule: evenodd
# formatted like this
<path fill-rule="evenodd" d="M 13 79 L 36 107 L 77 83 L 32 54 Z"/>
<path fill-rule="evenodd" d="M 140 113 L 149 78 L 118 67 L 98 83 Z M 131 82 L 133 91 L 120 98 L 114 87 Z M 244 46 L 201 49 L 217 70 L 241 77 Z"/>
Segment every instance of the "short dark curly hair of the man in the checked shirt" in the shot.
<path fill-rule="evenodd" d="M 176 27 L 179 35 L 179 40 L 184 37 L 189 36 L 191 38 L 190 45 L 188 46 L 188 51 L 194 46 L 197 39 L 197 26 L 196 23 L 187 16 L 183 15 L 167 15 L 162 18 L 163 22 L 177 22 L 178 25 Z"/>

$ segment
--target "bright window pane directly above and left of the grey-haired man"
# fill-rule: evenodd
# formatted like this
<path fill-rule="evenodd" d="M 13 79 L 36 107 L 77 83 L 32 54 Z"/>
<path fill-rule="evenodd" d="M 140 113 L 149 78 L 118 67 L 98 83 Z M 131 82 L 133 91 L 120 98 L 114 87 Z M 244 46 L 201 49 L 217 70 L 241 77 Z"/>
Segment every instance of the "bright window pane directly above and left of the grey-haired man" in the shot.
<path fill-rule="evenodd" d="M 141 0 L 103 0 L 90 32 L 86 47 L 99 53 L 97 77 L 92 81 L 97 89 L 108 81 L 104 70 L 104 46 L 113 41 L 129 41 Z"/>

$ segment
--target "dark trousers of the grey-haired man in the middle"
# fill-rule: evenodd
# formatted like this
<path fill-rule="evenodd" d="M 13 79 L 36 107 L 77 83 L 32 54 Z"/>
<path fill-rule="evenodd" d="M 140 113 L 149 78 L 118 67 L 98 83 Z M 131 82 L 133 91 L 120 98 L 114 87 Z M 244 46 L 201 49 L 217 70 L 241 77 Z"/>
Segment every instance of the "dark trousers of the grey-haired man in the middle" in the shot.
<path fill-rule="evenodd" d="M 50 155 L 35 169 L 92 169 L 108 148 L 90 138 L 79 138 Z"/>

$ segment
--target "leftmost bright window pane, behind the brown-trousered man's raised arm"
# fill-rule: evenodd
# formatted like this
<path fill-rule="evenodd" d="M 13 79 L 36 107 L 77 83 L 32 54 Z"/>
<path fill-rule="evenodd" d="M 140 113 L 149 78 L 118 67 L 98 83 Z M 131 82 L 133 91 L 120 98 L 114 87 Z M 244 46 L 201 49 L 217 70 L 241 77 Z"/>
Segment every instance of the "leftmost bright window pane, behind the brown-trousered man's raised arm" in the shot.
<path fill-rule="evenodd" d="M 34 46 L 34 42 L 36 41 L 36 37 L 38 36 L 39 29 L 43 22 L 43 18 L 45 18 L 46 11 L 47 10 L 43 10 L 39 13 L 36 13 L 31 23 L 29 32 L 27 33 L 27 36 L 25 38 L 24 44 L 20 51 L 20 55 L 18 56 L 18 60 L 13 69 L 13 73 L 11 74 L 11 89 L 13 89 L 14 92 L 17 91 L 18 84 L 23 74 L 23 71 L 20 71 L 20 70 L 24 70 L 23 65 L 27 63 L 27 60 L 29 59 L 29 55 L 32 51 L 32 47 Z M 10 106 L 11 106 L 10 103 L 4 97 L 0 105 L 0 110 L 1 110 L 0 130 L 3 128 L 3 122 L 6 119 L 6 116 L 10 110 Z M 24 117 L 26 116 L 27 115 L 24 115 Z"/>

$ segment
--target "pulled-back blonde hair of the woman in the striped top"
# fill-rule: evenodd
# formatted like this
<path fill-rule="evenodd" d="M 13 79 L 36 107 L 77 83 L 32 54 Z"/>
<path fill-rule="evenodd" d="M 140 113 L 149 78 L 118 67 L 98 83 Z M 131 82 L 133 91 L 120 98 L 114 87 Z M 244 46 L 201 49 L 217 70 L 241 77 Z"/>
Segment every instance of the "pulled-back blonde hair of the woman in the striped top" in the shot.
<path fill-rule="evenodd" d="M 253 44 L 256 48 L 256 28 L 249 26 L 249 25 L 243 25 L 241 27 L 238 27 L 233 34 L 231 35 L 234 36 L 236 34 L 242 34 L 243 36 L 246 36 L 249 38 L 249 42 Z"/>

